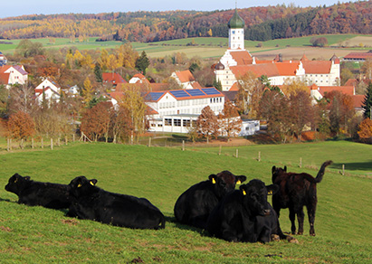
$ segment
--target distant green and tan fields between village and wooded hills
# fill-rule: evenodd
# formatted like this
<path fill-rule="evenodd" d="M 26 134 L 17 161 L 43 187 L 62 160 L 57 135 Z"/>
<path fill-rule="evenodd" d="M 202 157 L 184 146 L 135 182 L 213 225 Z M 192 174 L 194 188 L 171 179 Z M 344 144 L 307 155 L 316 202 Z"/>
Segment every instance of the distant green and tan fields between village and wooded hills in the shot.
<path fill-rule="evenodd" d="M 322 35 L 320 35 L 322 36 Z M 318 37 L 320 37 L 318 36 Z M 371 36 L 361 36 L 352 34 L 337 34 L 324 35 L 329 41 L 327 48 L 314 48 L 310 46 L 310 39 L 312 36 L 272 40 L 268 42 L 252 42 L 245 41 L 245 48 L 249 50 L 259 60 L 272 60 L 278 53 L 282 53 L 284 60 L 300 59 L 303 54 L 312 59 L 326 59 L 328 60 L 333 54 L 339 57 L 347 55 L 349 52 L 357 50 L 367 51 L 372 47 Z M 61 49 L 63 47 L 76 47 L 79 50 L 95 50 L 95 49 L 112 49 L 122 44 L 122 42 L 95 42 L 96 38 L 90 38 L 89 42 L 71 42 L 66 38 L 55 38 L 54 42 L 49 39 L 36 39 L 33 42 L 42 42 L 47 49 Z M 11 44 L 0 43 L 0 52 L 13 53 L 15 47 L 20 40 L 3 41 L 11 42 Z M 188 45 L 187 43 L 195 42 L 196 46 Z M 262 47 L 257 47 L 258 43 Z M 349 46 L 357 46 L 358 48 L 336 48 L 341 44 L 347 43 Z M 133 42 L 133 47 L 138 51 L 146 51 L 149 57 L 164 57 L 172 55 L 175 52 L 185 52 L 187 57 L 200 56 L 201 58 L 219 58 L 227 48 L 226 38 L 189 38 L 181 40 L 172 40 L 167 42 L 152 42 L 139 43 Z M 366 46 L 366 47 L 365 47 Z"/>

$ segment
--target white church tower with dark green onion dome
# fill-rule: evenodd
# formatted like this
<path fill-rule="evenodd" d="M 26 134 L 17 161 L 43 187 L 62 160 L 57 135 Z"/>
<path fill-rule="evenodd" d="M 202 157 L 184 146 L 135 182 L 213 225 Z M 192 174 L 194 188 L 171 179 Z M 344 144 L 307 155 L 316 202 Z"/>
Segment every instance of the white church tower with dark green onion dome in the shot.
<path fill-rule="evenodd" d="M 244 21 L 238 14 L 237 8 L 227 26 L 229 27 L 229 49 L 244 50 Z"/>

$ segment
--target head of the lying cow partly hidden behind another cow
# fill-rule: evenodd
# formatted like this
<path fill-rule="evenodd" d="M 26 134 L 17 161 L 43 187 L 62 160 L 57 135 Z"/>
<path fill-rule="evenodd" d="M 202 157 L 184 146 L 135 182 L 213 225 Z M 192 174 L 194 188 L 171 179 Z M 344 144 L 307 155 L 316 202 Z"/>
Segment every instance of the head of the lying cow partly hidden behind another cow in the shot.
<path fill-rule="evenodd" d="M 244 175 L 234 175 L 229 171 L 209 175 L 209 181 L 214 185 L 217 197 L 223 197 L 224 194 L 233 191 L 236 184 L 242 184 L 246 179 Z"/>

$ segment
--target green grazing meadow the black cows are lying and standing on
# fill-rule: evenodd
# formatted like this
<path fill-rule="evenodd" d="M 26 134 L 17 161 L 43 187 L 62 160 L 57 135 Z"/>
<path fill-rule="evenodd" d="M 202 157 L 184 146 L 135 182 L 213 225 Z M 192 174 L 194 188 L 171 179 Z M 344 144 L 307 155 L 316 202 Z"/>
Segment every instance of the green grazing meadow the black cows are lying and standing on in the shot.
<path fill-rule="evenodd" d="M 65 216 L 66 211 L 29 207 L 0 189 L 0 259 L 2 263 L 367 263 L 372 261 L 372 146 L 322 142 L 293 145 L 224 147 L 148 147 L 105 143 L 69 143 L 53 150 L 0 152 L 0 185 L 11 175 L 35 181 L 68 184 L 85 175 L 115 193 L 146 197 L 167 217 L 165 230 L 130 230 Z M 256 156 L 261 151 L 261 162 Z M 302 167 L 298 165 L 302 156 Z M 209 237 L 206 231 L 174 221 L 177 197 L 190 185 L 230 170 L 248 179 L 271 183 L 272 165 L 317 174 L 332 159 L 318 185 L 316 237 L 287 241 L 233 243 Z M 346 175 L 339 174 L 339 165 Z M 349 170 L 348 170 L 349 169 Z M 271 199 L 269 198 L 269 201 Z M 306 212 L 305 212 L 306 213 Z M 281 228 L 290 231 L 288 211 Z"/>

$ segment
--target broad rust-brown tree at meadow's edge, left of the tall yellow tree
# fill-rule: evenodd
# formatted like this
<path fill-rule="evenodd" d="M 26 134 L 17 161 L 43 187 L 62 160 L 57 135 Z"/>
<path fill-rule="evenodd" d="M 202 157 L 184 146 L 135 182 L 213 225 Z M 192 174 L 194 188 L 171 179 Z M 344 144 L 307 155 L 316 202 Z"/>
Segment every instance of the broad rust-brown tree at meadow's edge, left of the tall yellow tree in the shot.
<path fill-rule="evenodd" d="M 94 141 L 105 137 L 108 141 L 110 128 L 110 102 L 100 102 L 89 108 L 81 118 L 81 132 Z"/>

